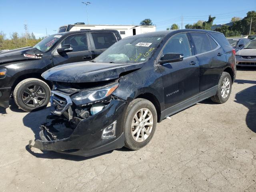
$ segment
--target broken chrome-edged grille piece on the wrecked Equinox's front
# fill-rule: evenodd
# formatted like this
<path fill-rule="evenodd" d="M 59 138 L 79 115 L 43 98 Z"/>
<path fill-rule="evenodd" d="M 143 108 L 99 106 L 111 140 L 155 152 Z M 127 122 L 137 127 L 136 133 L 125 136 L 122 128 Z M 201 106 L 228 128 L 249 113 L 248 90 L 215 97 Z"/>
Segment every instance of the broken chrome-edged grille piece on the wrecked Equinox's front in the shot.
<path fill-rule="evenodd" d="M 72 100 L 68 95 L 58 91 L 52 91 L 51 105 L 53 108 L 52 113 L 61 115 L 72 105 Z"/>

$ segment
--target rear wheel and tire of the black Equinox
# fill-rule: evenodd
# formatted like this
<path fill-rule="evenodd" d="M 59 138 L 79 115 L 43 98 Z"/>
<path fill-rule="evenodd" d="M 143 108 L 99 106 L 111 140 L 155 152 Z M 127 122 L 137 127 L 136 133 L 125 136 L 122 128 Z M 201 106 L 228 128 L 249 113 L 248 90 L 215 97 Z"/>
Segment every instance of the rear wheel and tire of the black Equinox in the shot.
<path fill-rule="evenodd" d="M 232 78 L 228 72 L 222 72 L 217 86 L 216 95 L 211 100 L 216 103 L 225 103 L 232 90 Z"/>

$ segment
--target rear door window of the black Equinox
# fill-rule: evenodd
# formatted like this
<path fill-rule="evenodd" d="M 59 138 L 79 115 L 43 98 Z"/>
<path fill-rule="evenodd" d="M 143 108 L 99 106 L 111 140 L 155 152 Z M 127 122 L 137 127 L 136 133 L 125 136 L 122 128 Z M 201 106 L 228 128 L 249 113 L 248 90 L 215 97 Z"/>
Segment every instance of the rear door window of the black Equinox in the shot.
<path fill-rule="evenodd" d="M 196 46 L 196 53 L 204 53 L 212 50 L 208 35 L 205 33 L 190 33 Z"/>

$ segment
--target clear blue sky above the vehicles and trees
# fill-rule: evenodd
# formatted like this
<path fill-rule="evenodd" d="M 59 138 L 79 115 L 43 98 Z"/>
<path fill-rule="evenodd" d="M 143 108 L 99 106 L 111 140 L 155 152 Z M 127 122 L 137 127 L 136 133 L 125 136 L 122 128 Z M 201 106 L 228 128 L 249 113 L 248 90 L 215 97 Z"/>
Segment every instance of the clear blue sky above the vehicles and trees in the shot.
<path fill-rule="evenodd" d="M 87 22 L 84 0 L 0 0 L 0 31 L 24 33 L 28 31 L 37 37 L 54 34 L 59 26 Z M 87 2 L 88 0 L 86 0 Z M 215 24 L 224 24 L 233 16 L 244 17 L 249 10 L 256 10 L 256 0 L 89 0 L 90 24 L 139 24 L 150 18 L 157 30 L 166 30 L 173 23 L 184 25 L 207 20 L 216 16 Z M 241 6 L 240 6 L 241 5 Z"/>

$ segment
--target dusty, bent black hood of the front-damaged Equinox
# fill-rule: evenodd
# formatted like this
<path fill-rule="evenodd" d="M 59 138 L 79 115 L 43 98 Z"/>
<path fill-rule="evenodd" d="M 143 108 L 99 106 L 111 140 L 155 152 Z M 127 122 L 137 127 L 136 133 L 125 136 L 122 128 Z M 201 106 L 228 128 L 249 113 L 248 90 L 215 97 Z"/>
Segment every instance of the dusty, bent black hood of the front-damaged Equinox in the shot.
<path fill-rule="evenodd" d="M 143 65 L 76 62 L 51 68 L 42 77 L 49 81 L 68 83 L 99 82 L 119 78 L 121 73 L 140 69 Z"/>

